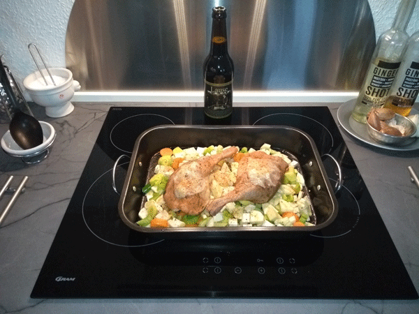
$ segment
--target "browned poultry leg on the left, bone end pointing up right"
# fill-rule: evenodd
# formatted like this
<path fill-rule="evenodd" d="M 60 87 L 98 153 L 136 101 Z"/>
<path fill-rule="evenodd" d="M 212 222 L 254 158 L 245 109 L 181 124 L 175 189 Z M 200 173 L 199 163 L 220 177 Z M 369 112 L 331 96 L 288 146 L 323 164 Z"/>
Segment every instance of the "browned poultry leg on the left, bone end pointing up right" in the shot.
<path fill-rule="evenodd" d="M 163 197 L 170 209 L 198 215 L 210 201 L 210 174 L 221 160 L 237 153 L 230 147 L 212 156 L 182 164 L 169 178 Z"/>

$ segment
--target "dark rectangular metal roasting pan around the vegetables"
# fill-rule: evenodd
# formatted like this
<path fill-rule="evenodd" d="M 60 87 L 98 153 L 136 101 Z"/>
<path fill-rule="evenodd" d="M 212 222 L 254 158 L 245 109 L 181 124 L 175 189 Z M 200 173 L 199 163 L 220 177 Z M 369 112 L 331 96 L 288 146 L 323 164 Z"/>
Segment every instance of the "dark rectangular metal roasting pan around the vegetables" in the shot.
<path fill-rule="evenodd" d="M 136 224 L 145 203 L 141 188 L 154 174 L 159 151 L 164 147 L 238 146 L 259 149 L 264 143 L 297 160 L 316 225 L 307 227 L 180 227 L 149 228 Z M 119 199 L 119 216 L 132 230 L 165 239 L 281 238 L 307 235 L 330 225 L 337 216 L 337 200 L 313 139 L 290 126 L 172 126 L 145 130 L 135 141 L 128 172 Z"/>

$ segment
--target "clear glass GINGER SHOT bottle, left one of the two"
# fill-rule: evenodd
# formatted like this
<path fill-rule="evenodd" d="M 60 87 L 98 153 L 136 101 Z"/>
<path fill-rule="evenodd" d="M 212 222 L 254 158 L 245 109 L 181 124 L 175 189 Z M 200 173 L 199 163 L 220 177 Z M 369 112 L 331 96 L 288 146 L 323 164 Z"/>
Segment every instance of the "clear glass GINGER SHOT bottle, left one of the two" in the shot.
<path fill-rule="evenodd" d="M 385 100 L 390 96 L 390 88 L 409 40 L 406 27 L 415 5 L 416 0 L 401 0 L 392 27 L 382 33 L 377 40 L 367 75 L 351 115 L 358 122 L 365 124 L 369 111 L 373 107 L 383 107 Z"/>

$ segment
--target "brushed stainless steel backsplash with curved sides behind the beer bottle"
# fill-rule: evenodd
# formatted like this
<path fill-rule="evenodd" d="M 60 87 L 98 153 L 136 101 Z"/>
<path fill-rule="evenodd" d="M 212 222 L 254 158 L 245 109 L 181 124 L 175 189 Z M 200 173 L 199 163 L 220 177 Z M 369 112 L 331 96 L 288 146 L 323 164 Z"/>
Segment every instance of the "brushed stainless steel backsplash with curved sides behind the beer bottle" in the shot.
<path fill-rule="evenodd" d="M 203 89 L 214 6 L 236 90 L 359 89 L 376 43 L 367 0 L 75 0 L 66 66 L 84 91 Z"/>

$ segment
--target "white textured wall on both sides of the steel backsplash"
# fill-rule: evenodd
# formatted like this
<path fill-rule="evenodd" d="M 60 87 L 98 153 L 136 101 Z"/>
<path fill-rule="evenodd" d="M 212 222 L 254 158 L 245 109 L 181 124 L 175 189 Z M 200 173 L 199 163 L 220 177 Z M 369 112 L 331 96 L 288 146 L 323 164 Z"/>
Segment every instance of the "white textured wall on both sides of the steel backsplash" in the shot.
<path fill-rule="evenodd" d="M 75 0 L 0 0 L 0 54 L 18 82 L 36 70 L 27 45 L 36 43 L 48 66 L 66 66 L 68 17 Z M 351 1 L 351 0 L 348 0 Z M 390 28 L 400 0 L 369 0 L 376 36 Z M 419 3 L 407 29 L 419 30 Z"/>

